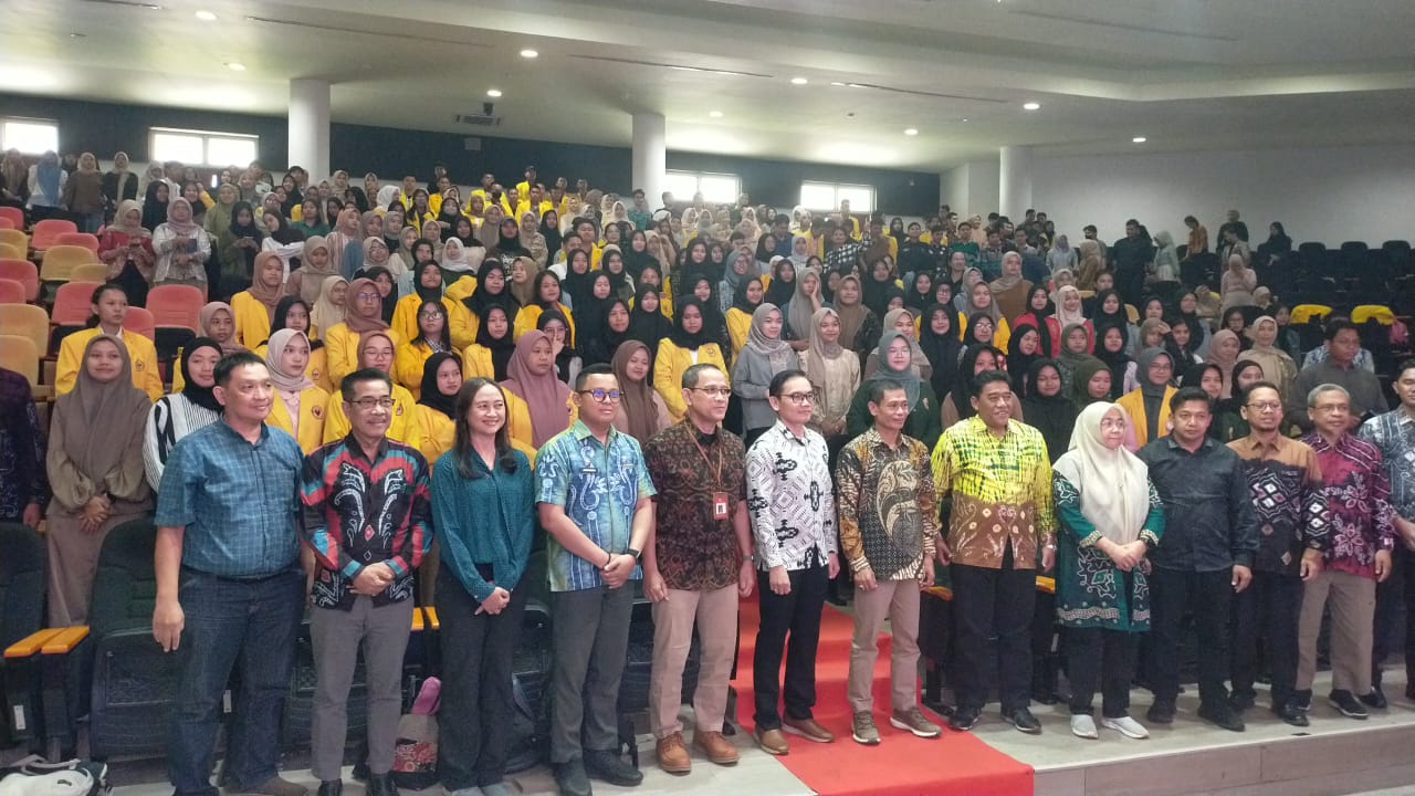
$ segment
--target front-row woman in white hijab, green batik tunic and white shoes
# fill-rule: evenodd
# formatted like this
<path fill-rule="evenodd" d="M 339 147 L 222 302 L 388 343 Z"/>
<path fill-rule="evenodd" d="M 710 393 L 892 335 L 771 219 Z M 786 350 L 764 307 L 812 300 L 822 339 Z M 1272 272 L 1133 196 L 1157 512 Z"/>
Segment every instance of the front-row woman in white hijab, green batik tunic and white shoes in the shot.
<path fill-rule="evenodd" d="M 1149 630 L 1145 557 L 1165 533 L 1165 506 L 1149 469 L 1125 450 L 1125 411 L 1091 404 L 1071 433 L 1071 450 L 1051 467 L 1057 518 L 1057 615 L 1065 627 L 1071 732 L 1097 738 L 1091 700 L 1102 694 L 1101 725 L 1149 738 L 1129 717 L 1139 635 Z"/>

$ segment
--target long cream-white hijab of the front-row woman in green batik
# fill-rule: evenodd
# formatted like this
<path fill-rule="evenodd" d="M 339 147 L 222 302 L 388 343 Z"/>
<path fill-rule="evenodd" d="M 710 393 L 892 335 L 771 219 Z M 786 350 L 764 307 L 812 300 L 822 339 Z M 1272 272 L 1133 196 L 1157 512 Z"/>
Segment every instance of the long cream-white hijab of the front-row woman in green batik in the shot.
<path fill-rule="evenodd" d="M 1081 514 L 1116 542 L 1139 538 L 1149 516 L 1149 467 L 1121 445 L 1101 443 L 1101 418 L 1111 409 L 1129 423 L 1119 404 L 1097 402 L 1081 409 L 1071 431 L 1071 449 L 1051 469 L 1080 490 Z"/>

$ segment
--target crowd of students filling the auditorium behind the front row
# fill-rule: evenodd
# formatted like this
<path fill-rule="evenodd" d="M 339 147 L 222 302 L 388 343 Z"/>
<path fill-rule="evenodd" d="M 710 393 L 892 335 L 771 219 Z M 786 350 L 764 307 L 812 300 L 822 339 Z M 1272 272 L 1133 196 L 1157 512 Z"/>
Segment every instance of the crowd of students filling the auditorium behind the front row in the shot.
<path fill-rule="evenodd" d="M 724 425 L 749 446 L 775 422 L 774 377 L 804 370 L 811 428 L 832 459 L 870 425 L 862 384 L 873 374 L 906 385 L 904 433 L 932 449 L 978 415 L 975 378 L 1003 371 L 1012 419 L 1037 428 L 1053 460 L 1094 402 L 1124 409 L 1125 449 L 1165 438 L 1176 388 L 1211 399 L 1207 433 L 1220 443 L 1249 438 L 1254 385 L 1276 392 L 1279 428 L 1292 438 L 1310 440 L 1310 394 L 1323 385 L 1344 390 L 1351 429 L 1374 428 L 1390 409 L 1348 320 L 1333 314 L 1324 343 L 1300 350 L 1290 307 L 1258 285 L 1252 263 L 1289 251 L 1290 239 L 1274 224 L 1254 252 L 1237 212 L 1220 225 L 1215 295 L 1174 285 L 1173 237 L 1150 237 L 1133 220 L 1119 241 L 1108 245 L 1088 225 L 1073 246 L 1044 212 L 1015 222 L 945 208 L 906 227 L 848 204 L 816 215 L 746 195 L 715 207 L 668 194 L 651 210 L 642 191 L 570 188 L 565 178 L 546 187 L 533 170 L 514 187 L 488 174 L 463 203 L 444 171 L 430 188 L 374 174 L 359 187 L 344 171 L 316 183 L 291 169 L 273 180 L 253 164 L 224 171 L 212 195 L 168 178 L 183 173 L 171 164 L 144 183 L 119 156 L 99 180 L 108 204 L 92 211 L 112 208 L 93 225 L 110 283 L 95 290 L 91 327 L 61 344 L 48 455 L 33 414 L 6 411 L 4 514 L 34 523 L 33 507 L 48 501 L 55 623 L 82 622 L 103 533 L 149 510 L 170 450 L 218 421 L 211 374 L 238 351 L 263 357 L 269 425 L 306 453 L 350 433 L 345 375 L 388 374 L 388 436 L 429 462 L 454 445 L 463 382 L 502 387 L 509 438 L 533 460 L 574 425 L 572 385 L 597 364 L 618 377 L 616 428 L 641 445 L 685 416 L 682 380 L 695 364 L 729 375 Z M 85 153 L 79 171 L 92 163 Z M 31 203 L 55 188 L 48 161 L 40 166 Z M 1186 224 L 1183 259 L 1208 245 L 1203 225 Z M 126 309 L 164 283 L 197 285 L 209 299 L 166 395 L 153 344 L 123 327 Z M 1402 384 L 1415 370 L 1395 375 Z M 1415 390 L 1398 390 L 1408 446 Z M 1415 547 L 1409 479 L 1391 474 L 1404 503 L 1382 525 L 1381 550 Z M 1363 688 L 1375 704 L 1378 680 Z"/>

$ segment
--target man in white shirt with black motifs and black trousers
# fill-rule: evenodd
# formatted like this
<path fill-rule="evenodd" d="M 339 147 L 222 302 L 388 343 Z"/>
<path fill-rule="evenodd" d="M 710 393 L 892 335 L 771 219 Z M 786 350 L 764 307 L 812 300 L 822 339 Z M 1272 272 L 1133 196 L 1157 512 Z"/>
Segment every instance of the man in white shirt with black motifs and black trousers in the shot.
<path fill-rule="evenodd" d="M 768 584 L 761 589 L 761 623 L 751 659 L 751 734 L 773 755 L 791 751 L 782 731 L 816 744 L 835 741 L 835 734 L 811 715 L 825 585 L 841 571 L 829 452 L 825 438 L 807 428 L 814 398 L 805 373 L 785 370 L 774 375 L 767 402 L 777 422 L 747 450 L 747 508 L 758 578 L 766 571 Z M 778 680 L 782 644 L 784 686 Z M 785 704 L 785 715 L 778 712 L 778 700 Z"/>

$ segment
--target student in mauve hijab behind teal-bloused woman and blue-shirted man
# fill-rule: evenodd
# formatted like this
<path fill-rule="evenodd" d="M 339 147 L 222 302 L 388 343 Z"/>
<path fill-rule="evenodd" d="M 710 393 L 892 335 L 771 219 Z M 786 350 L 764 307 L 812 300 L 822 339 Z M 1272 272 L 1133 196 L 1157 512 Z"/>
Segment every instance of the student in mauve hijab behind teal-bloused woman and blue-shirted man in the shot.
<path fill-rule="evenodd" d="M 516 340 L 501 387 L 507 392 L 511 436 L 536 450 L 577 418 L 570 388 L 555 375 L 555 346 L 539 329 Z"/>

